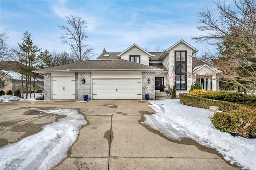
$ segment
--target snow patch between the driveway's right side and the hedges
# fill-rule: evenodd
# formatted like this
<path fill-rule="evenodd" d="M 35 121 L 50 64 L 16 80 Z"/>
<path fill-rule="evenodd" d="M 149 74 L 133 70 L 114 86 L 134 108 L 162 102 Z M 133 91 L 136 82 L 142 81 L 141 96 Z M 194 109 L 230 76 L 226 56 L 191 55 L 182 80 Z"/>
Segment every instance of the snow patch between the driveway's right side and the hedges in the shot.
<path fill-rule="evenodd" d="M 156 114 L 144 115 L 144 124 L 170 139 L 191 138 L 203 146 L 216 149 L 230 164 L 256 170 L 256 139 L 235 137 L 216 130 L 207 118 L 208 109 L 182 105 L 179 99 L 149 102 Z"/>

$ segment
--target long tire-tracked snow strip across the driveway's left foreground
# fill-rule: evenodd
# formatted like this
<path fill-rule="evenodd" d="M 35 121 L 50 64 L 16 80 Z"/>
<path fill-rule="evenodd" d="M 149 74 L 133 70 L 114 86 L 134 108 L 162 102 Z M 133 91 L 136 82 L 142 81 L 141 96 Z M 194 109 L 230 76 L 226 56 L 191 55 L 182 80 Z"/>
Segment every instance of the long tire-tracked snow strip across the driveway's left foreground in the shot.
<path fill-rule="evenodd" d="M 38 109 L 35 109 L 38 110 Z M 0 149 L 0 165 L 22 164 L 22 169 L 52 169 L 67 156 L 78 137 L 80 127 L 86 125 L 84 117 L 74 109 L 44 111 L 48 114 L 66 115 L 59 121 L 43 125 L 43 130 Z M 4 169 L 0 166 L 0 169 Z"/>

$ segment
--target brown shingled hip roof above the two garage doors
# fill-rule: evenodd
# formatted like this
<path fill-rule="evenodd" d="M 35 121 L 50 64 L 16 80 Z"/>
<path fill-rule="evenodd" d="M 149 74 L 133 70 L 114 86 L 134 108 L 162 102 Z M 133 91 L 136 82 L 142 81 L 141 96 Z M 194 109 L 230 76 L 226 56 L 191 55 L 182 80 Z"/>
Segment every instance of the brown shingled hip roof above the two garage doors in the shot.
<path fill-rule="evenodd" d="M 124 59 L 89 60 L 66 65 L 35 70 L 36 73 L 52 72 L 80 72 L 80 71 L 162 71 L 160 68 L 134 63 Z"/>

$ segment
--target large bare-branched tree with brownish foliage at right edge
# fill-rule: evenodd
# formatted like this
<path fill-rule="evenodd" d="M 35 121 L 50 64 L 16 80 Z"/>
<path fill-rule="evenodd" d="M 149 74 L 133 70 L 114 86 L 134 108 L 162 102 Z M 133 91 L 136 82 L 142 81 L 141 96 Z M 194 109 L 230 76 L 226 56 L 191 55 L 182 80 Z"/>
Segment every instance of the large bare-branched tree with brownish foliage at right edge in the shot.
<path fill-rule="evenodd" d="M 218 54 L 209 55 L 214 66 L 223 71 L 220 81 L 233 83 L 255 95 L 256 89 L 256 1 L 234 0 L 234 6 L 216 1 L 218 15 L 205 9 L 199 12 L 196 42 L 214 45 Z"/>

